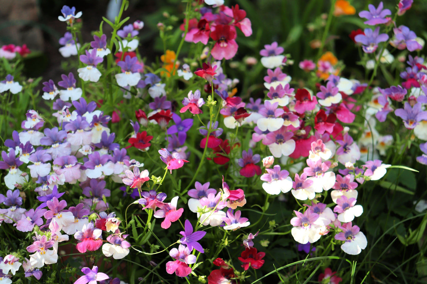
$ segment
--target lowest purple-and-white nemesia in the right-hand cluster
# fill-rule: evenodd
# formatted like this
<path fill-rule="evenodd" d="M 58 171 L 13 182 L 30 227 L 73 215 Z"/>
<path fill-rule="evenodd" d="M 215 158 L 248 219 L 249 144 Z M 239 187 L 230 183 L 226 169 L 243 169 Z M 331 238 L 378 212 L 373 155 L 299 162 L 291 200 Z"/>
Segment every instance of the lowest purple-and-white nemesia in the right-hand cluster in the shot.
<path fill-rule="evenodd" d="M 342 224 L 338 227 L 342 229 L 342 232 L 335 235 L 335 239 L 339 241 L 345 241 L 341 245 L 341 249 L 349 255 L 358 255 L 362 252 L 362 249 L 366 248 L 368 241 L 365 235 L 360 232 L 358 226 L 351 226 L 351 222 Z"/>

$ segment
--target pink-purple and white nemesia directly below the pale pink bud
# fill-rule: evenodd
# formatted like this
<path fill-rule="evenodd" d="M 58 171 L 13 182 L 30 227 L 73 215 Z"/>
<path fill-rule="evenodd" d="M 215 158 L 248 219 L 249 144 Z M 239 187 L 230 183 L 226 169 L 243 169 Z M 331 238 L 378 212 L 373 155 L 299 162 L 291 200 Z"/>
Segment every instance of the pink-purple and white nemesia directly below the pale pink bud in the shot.
<path fill-rule="evenodd" d="M 280 165 L 275 165 L 273 169 L 266 168 L 267 173 L 263 174 L 260 179 L 265 181 L 263 189 L 268 194 L 287 193 L 292 189 L 292 179 L 289 177 L 287 170 L 280 170 Z"/>

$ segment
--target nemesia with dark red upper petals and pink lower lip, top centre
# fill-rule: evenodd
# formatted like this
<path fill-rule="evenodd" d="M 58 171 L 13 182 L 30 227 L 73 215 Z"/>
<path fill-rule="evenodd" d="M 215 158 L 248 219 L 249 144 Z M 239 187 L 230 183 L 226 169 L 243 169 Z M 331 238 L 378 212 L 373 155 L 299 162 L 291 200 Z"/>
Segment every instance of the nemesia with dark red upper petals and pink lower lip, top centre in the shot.
<path fill-rule="evenodd" d="M 215 30 L 211 31 L 211 38 L 216 41 L 212 47 L 211 55 L 216 60 L 231 59 L 236 55 L 239 47 L 235 41 L 236 29 L 228 25 L 216 25 Z M 196 74 L 197 75 L 197 74 Z"/>

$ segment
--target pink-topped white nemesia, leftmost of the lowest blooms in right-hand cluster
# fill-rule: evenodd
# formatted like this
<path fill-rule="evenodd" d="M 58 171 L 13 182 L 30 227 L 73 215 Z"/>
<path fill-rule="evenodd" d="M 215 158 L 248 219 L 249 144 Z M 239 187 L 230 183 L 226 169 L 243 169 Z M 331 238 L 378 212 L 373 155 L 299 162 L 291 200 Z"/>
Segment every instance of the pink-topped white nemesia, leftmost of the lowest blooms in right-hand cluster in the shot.
<path fill-rule="evenodd" d="M 298 211 L 294 211 L 296 217 L 291 219 L 291 224 L 294 226 L 291 229 L 292 237 L 298 243 L 314 243 L 321 237 L 318 234 L 319 225 L 315 222 L 319 219 L 319 214 L 311 212 L 307 209 L 304 214 Z"/>

